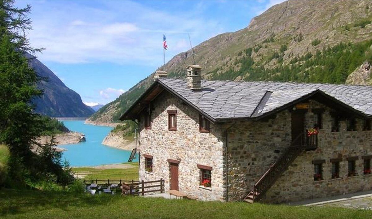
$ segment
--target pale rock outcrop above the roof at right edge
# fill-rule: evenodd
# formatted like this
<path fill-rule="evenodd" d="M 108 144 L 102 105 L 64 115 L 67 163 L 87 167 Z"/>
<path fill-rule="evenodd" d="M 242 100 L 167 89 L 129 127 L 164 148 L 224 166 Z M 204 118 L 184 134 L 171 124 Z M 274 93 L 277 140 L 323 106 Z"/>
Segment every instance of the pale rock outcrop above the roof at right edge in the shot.
<path fill-rule="evenodd" d="M 371 80 L 371 67 L 372 64 L 369 62 L 364 62 L 358 68 L 351 73 L 347 79 L 346 84 L 352 85 L 372 85 Z"/>

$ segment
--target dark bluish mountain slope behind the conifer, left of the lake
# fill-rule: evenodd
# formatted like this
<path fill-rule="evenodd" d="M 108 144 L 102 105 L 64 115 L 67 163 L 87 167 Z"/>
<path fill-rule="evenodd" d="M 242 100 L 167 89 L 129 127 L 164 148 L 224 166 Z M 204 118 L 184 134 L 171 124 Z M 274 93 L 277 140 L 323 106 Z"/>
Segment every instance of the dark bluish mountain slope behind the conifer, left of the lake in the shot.
<path fill-rule="evenodd" d="M 33 99 L 35 112 L 49 117 L 89 117 L 94 113 L 92 108 L 83 104 L 80 95 L 63 84 L 47 66 L 29 53 L 25 56 L 29 65 L 42 78 L 37 86 L 44 90 L 44 94 Z"/>

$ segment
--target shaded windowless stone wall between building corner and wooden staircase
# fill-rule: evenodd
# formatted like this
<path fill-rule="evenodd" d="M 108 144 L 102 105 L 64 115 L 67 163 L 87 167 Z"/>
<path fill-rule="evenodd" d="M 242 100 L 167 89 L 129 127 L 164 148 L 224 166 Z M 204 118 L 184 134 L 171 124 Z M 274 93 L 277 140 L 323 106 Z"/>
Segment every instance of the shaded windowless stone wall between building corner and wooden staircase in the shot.
<path fill-rule="evenodd" d="M 242 200 L 291 144 L 291 113 L 268 121 L 231 123 L 228 131 L 228 198 Z"/>

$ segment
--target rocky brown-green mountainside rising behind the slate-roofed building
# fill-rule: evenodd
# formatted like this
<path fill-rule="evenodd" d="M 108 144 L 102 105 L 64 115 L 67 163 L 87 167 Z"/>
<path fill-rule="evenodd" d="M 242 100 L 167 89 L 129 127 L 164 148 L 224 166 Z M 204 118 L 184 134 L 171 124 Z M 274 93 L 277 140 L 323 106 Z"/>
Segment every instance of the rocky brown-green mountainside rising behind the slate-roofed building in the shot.
<path fill-rule="evenodd" d="M 343 84 L 366 60 L 372 45 L 371 12 L 371 0 L 288 0 L 254 17 L 244 29 L 195 46 L 195 63 L 202 66 L 205 79 Z M 187 51 L 159 69 L 184 78 L 191 63 Z M 89 120 L 118 121 L 152 78 L 143 79 Z"/>

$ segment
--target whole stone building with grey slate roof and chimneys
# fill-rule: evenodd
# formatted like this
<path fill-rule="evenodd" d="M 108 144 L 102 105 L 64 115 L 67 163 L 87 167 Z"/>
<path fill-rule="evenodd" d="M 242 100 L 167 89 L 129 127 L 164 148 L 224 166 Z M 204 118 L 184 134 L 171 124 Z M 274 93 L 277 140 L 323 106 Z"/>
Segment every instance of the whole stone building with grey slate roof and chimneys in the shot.
<path fill-rule="evenodd" d="M 155 72 L 122 115 L 140 180 L 200 200 L 293 202 L 372 189 L 372 87 L 204 81 Z"/>

